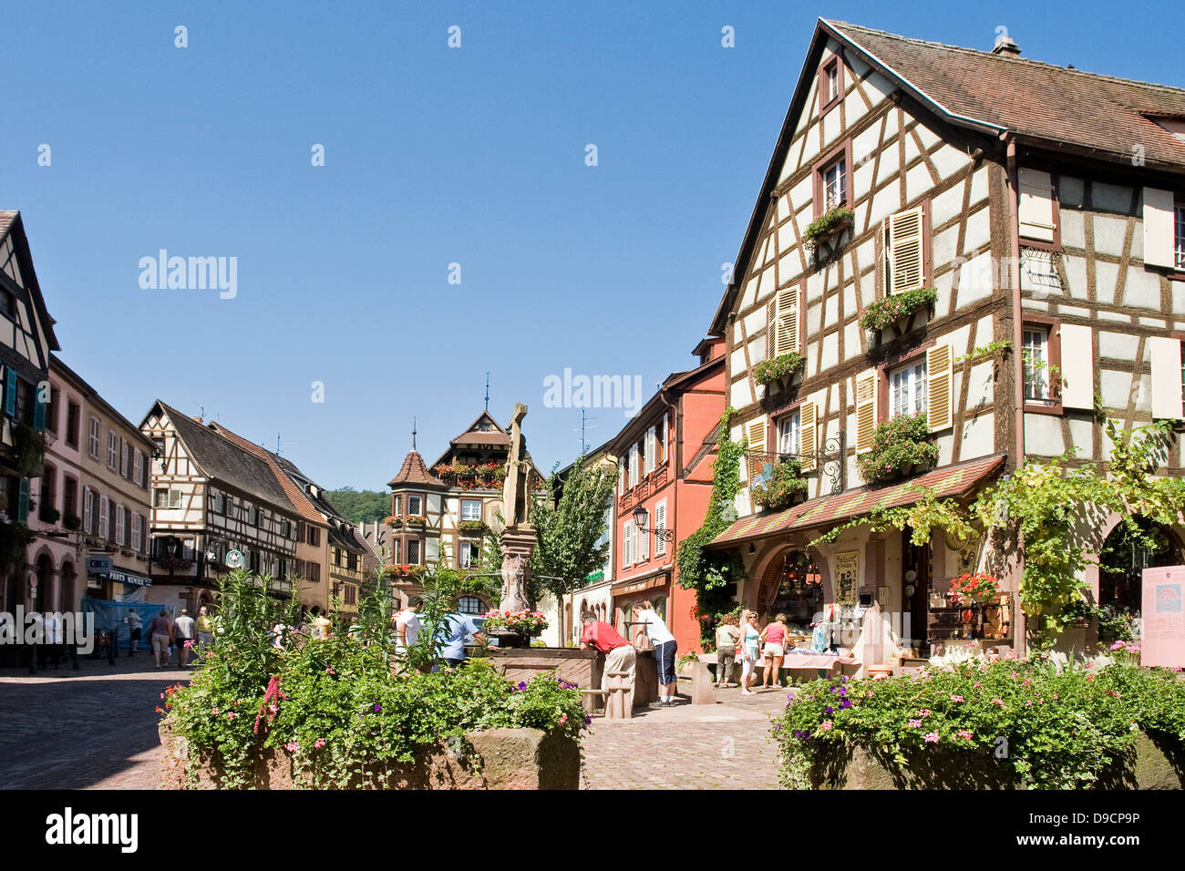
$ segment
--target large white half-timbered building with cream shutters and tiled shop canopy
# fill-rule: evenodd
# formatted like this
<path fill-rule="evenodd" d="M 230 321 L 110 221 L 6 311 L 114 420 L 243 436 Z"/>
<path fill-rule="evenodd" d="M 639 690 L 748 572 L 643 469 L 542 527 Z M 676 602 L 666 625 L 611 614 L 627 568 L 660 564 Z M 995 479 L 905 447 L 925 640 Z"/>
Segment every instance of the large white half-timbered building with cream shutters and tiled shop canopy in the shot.
<path fill-rule="evenodd" d="M 866 526 L 807 543 L 920 487 L 969 500 L 1027 457 L 1104 461 L 1096 397 L 1127 429 L 1185 417 L 1185 90 L 1019 53 L 818 23 L 710 331 L 750 451 L 716 546 L 742 555 L 739 598 L 762 614 L 806 629 L 877 602 L 927 653 L 959 634 L 942 593 L 974 544 Z M 763 361 L 783 377 L 758 383 Z M 859 459 L 901 416 L 936 461 L 870 483 Z M 807 500 L 756 510 L 752 485 L 787 459 Z M 1181 474 L 1179 444 L 1164 470 Z M 1183 562 L 1181 530 L 1164 533 L 1136 563 Z M 1024 639 L 1018 575 L 998 646 Z M 1117 588 L 1087 579 L 1139 602 L 1139 565 Z"/>

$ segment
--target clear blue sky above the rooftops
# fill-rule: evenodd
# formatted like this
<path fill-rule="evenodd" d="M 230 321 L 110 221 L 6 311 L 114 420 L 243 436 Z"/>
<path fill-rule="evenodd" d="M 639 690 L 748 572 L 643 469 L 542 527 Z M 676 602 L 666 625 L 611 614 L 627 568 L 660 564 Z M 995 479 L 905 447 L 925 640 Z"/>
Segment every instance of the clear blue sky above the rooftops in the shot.
<path fill-rule="evenodd" d="M 0 207 L 63 359 L 135 422 L 204 406 L 382 489 L 489 371 L 546 469 L 581 423 L 549 374 L 649 396 L 693 364 L 819 15 L 1185 85 L 1179 2 L 9 4 Z M 236 295 L 142 288 L 160 249 L 237 258 Z M 589 414 L 592 444 L 626 420 Z"/>

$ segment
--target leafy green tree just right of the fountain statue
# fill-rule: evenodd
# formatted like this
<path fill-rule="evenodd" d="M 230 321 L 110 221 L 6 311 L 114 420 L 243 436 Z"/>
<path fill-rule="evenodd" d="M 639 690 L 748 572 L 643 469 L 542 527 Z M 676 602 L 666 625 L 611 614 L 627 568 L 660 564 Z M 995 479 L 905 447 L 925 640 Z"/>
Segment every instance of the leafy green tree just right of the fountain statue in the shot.
<path fill-rule="evenodd" d="M 544 590 L 559 600 L 565 593 L 579 589 L 591 572 L 604 565 L 609 553 L 609 543 L 601 542 L 601 537 L 613 499 L 614 475 L 581 455 L 565 481 L 561 483 L 552 472 L 547 485 L 549 493 L 562 489 L 555 504 L 540 499 L 532 515 L 538 532 L 531 558 L 532 601 Z"/>

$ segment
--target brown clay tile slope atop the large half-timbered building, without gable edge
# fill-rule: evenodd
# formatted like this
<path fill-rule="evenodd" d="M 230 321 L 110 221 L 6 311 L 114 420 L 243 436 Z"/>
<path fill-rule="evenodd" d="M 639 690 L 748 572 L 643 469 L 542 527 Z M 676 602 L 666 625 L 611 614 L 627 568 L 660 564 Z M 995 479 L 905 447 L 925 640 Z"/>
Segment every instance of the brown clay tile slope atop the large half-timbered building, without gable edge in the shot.
<path fill-rule="evenodd" d="M 1185 89 L 826 21 L 948 114 L 1129 161 L 1185 167 L 1185 142 L 1148 115 L 1185 117 Z"/>

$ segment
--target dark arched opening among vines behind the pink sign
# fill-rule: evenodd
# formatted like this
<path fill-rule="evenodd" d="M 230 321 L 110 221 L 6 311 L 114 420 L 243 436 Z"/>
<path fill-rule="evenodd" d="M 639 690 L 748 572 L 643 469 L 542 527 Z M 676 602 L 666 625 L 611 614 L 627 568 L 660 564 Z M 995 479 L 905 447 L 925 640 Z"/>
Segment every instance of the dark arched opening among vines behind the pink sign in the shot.
<path fill-rule="evenodd" d="M 1133 518 L 1135 529 L 1120 523 L 1098 552 L 1098 604 L 1117 614 L 1139 615 L 1144 570 L 1185 563 L 1180 538 L 1170 527 Z"/>

